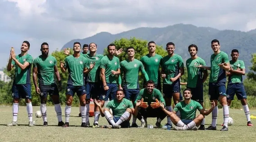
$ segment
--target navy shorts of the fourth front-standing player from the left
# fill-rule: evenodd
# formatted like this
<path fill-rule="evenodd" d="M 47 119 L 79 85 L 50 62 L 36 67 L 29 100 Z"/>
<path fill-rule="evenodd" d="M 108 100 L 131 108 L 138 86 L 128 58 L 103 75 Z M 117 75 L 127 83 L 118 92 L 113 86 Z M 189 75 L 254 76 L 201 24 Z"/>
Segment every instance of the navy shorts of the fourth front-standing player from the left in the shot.
<path fill-rule="evenodd" d="M 103 94 L 103 88 L 101 83 L 96 82 L 87 82 L 86 85 L 86 99 L 97 99 L 99 100 L 100 96 Z"/>

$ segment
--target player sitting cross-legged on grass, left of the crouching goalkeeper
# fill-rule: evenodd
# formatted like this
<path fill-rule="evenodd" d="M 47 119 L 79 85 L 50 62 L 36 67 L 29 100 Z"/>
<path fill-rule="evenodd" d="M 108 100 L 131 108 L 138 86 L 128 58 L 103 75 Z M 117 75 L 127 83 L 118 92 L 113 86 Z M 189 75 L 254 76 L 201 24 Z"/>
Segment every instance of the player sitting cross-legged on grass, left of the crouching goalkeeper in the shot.
<path fill-rule="evenodd" d="M 129 128 L 131 114 L 134 112 L 134 107 L 130 100 L 124 98 L 124 91 L 118 89 L 116 98 L 108 102 L 106 108 L 101 107 L 100 100 L 94 99 L 95 104 L 100 109 L 102 117 L 106 117 L 110 125 L 104 125 L 102 128 Z M 112 109 L 113 115 L 110 113 Z"/>

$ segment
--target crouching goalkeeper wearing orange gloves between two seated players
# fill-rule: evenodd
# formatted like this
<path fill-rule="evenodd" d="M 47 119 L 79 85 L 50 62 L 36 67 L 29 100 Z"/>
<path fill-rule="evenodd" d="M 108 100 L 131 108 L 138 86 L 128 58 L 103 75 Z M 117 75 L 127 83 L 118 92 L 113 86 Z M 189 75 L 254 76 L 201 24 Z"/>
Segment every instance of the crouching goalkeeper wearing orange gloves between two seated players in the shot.
<path fill-rule="evenodd" d="M 141 89 L 135 102 L 136 107 L 134 115 L 141 121 L 140 128 L 147 127 L 148 117 L 157 117 L 156 127 L 161 128 L 161 121 L 166 117 L 164 111 L 160 108 L 160 103 L 165 105 L 161 92 L 155 88 L 154 81 L 148 80 L 146 88 Z"/>

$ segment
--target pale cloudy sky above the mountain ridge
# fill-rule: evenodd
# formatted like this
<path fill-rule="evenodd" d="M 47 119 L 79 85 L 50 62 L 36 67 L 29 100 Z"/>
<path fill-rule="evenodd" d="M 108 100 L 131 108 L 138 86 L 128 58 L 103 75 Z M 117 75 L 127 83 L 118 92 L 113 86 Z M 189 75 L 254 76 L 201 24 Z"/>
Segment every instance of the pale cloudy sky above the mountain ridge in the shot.
<path fill-rule="evenodd" d="M 165 27 L 184 23 L 219 30 L 256 29 L 254 0 L 0 0 L 0 68 L 10 47 L 40 54 L 40 44 L 60 49 L 72 39 L 99 32 L 112 34 L 138 27 Z"/>

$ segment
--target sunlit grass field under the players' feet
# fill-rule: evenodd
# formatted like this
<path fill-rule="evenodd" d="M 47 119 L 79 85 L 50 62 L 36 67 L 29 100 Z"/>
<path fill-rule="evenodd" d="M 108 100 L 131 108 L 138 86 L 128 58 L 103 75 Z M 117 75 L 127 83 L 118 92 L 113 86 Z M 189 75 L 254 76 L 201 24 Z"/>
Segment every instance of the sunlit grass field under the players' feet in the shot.
<path fill-rule="evenodd" d="M 65 122 L 64 107 L 62 107 L 62 118 Z M 40 110 L 39 107 L 33 107 L 33 112 Z M 102 128 L 81 128 L 81 118 L 77 117 L 78 107 L 71 108 L 70 127 L 57 127 L 57 117 L 54 107 L 47 107 L 48 127 L 43 127 L 42 118 L 36 118 L 35 127 L 28 127 L 28 117 L 26 107 L 19 107 L 18 126 L 6 127 L 6 124 L 12 121 L 12 107 L 0 107 L 0 141 L 256 141 L 256 126 L 246 126 L 246 118 L 243 110 L 230 109 L 230 117 L 234 119 L 234 124 L 229 127 L 229 131 L 221 132 L 220 124 L 223 122 L 222 109 L 219 109 L 217 121 L 217 131 L 175 131 L 165 129 L 148 128 L 122 128 L 122 129 L 102 129 Z M 250 114 L 256 116 L 256 110 L 250 110 Z M 93 117 L 90 118 L 91 125 Z M 148 118 L 148 124 L 155 126 L 155 118 Z M 166 123 L 166 119 L 162 124 Z M 211 114 L 206 117 L 206 127 L 211 123 Z M 255 124 L 256 120 L 252 119 Z M 105 118 L 100 117 L 99 124 L 108 124 Z M 137 120 L 137 124 L 140 124 Z"/>

